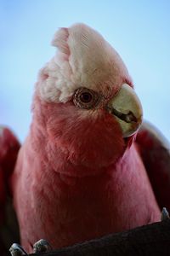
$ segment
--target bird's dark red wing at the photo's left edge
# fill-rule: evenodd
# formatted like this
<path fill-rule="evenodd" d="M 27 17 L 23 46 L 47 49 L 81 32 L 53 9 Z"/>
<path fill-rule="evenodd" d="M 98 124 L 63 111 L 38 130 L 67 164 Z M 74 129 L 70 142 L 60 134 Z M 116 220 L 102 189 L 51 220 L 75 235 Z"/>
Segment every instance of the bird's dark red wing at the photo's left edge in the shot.
<path fill-rule="evenodd" d="M 18 241 L 19 229 L 15 217 L 9 177 L 20 149 L 20 143 L 13 132 L 0 125 L 0 249 L 6 255 L 11 243 Z"/>

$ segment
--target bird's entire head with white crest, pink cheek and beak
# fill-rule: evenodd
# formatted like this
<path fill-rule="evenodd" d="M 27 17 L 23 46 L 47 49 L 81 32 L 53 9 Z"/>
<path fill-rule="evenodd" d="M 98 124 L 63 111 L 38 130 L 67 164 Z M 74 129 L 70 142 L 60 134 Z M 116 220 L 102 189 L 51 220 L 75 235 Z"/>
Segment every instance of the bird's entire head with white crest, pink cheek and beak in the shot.
<path fill-rule="evenodd" d="M 60 28 L 52 44 L 57 53 L 40 71 L 36 86 L 37 122 L 71 163 L 109 166 L 142 122 L 127 68 L 116 50 L 84 24 Z"/>

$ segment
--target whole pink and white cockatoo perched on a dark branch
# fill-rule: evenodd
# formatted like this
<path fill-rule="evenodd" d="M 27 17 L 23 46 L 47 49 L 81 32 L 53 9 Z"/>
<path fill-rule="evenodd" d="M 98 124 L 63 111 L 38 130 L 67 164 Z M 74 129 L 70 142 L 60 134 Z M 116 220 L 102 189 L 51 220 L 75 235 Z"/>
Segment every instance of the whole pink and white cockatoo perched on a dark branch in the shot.
<path fill-rule="evenodd" d="M 160 221 L 170 209 L 169 144 L 143 121 L 116 49 L 82 23 L 59 28 L 52 45 L 25 142 L 5 127 L 0 135 L 1 162 L 14 154 L 9 169 L 0 166 L 0 224 L 9 191 L 29 253 L 41 238 L 67 247 Z"/>

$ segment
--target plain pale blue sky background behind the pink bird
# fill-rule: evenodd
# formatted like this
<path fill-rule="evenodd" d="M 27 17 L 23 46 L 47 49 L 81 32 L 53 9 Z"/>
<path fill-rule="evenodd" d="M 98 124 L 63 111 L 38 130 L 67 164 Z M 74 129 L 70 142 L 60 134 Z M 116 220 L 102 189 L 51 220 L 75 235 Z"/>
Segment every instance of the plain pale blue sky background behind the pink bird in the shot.
<path fill-rule="evenodd" d="M 118 51 L 150 120 L 170 141 L 170 1 L 0 0 L 0 123 L 23 142 L 37 72 L 60 26 L 83 22 Z"/>

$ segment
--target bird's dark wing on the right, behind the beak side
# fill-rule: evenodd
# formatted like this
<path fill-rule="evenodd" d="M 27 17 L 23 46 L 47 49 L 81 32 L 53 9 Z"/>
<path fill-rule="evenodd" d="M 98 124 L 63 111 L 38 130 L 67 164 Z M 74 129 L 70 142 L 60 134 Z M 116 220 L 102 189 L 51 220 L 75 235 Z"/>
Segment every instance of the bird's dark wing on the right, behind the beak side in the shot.
<path fill-rule="evenodd" d="M 140 128 L 136 143 L 158 205 L 170 211 L 170 143 L 148 122 Z"/>

